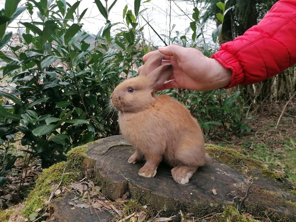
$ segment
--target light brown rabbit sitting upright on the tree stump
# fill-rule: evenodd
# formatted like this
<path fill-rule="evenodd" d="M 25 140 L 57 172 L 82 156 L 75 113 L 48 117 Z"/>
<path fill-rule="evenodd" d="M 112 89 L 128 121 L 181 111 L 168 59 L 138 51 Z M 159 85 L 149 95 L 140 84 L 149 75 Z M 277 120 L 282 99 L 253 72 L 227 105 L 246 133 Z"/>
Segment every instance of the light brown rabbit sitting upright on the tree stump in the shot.
<path fill-rule="evenodd" d="M 199 166 L 205 164 L 204 137 L 197 121 L 184 105 L 154 91 L 170 76 L 172 66 L 161 65 L 162 54 L 151 57 L 139 76 L 119 84 L 111 94 L 111 104 L 119 110 L 122 135 L 134 146 L 129 163 L 143 158 L 138 174 L 154 177 L 163 160 L 177 183 L 188 183 Z"/>

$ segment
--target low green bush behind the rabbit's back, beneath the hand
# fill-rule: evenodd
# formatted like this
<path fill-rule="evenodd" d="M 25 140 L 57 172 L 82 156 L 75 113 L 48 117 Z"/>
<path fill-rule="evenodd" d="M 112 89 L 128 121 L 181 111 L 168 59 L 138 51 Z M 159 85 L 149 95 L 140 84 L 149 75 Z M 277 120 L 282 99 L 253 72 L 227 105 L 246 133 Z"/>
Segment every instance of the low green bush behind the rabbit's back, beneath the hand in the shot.
<path fill-rule="evenodd" d="M 206 138 L 220 132 L 234 133 L 250 131 L 250 127 L 242 122 L 245 119 L 245 110 L 241 107 L 244 102 L 240 91 L 228 95 L 224 90 L 199 92 L 187 89 L 165 90 L 165 93 L 176 98 L 186 105 L 203 130 Z"/>

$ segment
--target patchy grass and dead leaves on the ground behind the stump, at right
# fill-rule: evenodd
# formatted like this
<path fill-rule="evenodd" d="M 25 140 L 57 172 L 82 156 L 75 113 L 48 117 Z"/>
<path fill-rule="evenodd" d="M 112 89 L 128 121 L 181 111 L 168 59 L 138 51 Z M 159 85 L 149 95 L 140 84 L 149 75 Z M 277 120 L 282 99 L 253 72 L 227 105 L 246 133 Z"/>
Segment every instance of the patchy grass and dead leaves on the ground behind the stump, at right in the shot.
<path fill-rule="evenodd" d="M 229 142 L 216 140 L 212 143 L 259 160 L 270 171 L 296 182 L 296 118 L 282 118 L 275 129 L 277 120 L 278 116 L 255 116 L 250 122 L 251 133 L 242 133 L 235 138 L 228 135 L 223 139 Z"/>

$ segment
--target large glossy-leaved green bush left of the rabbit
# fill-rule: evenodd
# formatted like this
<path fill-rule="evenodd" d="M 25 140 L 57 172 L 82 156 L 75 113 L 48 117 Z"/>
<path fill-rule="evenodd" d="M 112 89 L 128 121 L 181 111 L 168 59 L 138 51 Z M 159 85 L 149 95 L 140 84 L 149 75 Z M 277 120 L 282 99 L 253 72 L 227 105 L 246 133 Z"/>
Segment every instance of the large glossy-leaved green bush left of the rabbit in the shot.
<path fill-rule="evenodd" d="M 31 2 L 34 5 L 28 2 L 27 7 L 36 7 L 42 22 L 22 23 L 23 48 L 10 47 L 14 58 L 0 54 L 7 63 L 2 79 L 8 78 L 9 84 L 0 93 L 6 98 L 0 106 L 1 144 L 20 131 L 22 145 L 28 146 L 24 151 L 48 167 L 64 160 L 74 146 L 119 133 L 117 115 L 105 111 L 109 93 L 123 80 L 120 73 L 135 73 L 132 66 L 139 66 L 147 47 L 139 44 L 139 8 L 137 16 L 125 12 L 131 27 L 111 37 L 113 24 L 106 18 L 106 26 L 92 36 L 73 23 L 80 1 L 72 6 L 63 1 Z M 96 3 L 102 13 L 105 8 Z"/>

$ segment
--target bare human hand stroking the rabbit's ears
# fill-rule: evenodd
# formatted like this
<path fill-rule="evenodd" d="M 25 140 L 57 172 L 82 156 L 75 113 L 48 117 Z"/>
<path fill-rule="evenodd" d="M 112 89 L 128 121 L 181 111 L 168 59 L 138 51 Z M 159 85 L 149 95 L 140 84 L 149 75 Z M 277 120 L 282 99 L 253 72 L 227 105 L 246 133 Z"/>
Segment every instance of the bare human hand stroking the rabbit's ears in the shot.
<path fill-rule="evenodd" d="M 184 48 L 178 45 L 158 47 L 158 51 L 163 55 L 162 64 L 171 63 L 173 71 L 164 83 L 157 90 L 168 88 L 186 88 L 197 91 L 208 91 L 227 86 L 231 83 L 232 71 L 224 68 L 215 59 L 204 56 L 194 48 Z M 152 51 L 143 56 L 146 62 L 153 54 Z M 140 72 L 142 66 L 138 68 Z"/>

